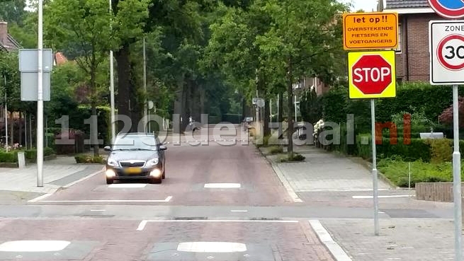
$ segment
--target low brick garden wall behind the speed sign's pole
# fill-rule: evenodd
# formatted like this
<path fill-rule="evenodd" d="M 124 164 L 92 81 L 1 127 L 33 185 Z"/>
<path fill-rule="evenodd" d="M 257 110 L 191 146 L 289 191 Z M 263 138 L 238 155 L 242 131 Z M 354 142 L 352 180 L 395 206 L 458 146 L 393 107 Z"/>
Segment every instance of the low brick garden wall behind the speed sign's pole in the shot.
<path fill-rule="evenodd" d="M 461 185 L 464 191 L 464 182 Z M 419 200 L 453 202 L 453 182 L 416 183 L 416 198 Z"/>

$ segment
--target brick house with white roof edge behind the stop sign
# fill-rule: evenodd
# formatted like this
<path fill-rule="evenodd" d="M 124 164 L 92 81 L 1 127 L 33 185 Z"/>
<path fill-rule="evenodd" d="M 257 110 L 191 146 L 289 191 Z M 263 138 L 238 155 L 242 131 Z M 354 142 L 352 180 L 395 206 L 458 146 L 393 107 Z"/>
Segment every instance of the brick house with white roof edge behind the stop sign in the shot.
<path fill-rule="evenodd" d="M 429 21 L 443 20 L 427 0 L 380 0 L 378 11 L 398 13 L 397 81 L 429 81 Z"/>

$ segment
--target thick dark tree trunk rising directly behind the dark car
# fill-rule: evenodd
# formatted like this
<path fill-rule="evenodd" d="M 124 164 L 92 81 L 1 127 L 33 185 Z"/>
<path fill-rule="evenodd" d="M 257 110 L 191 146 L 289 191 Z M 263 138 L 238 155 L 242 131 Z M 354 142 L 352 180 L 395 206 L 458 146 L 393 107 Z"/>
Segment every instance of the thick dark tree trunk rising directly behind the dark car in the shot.
<path fill-rule="evenodd" d="M 118 63 L 118 95 L 116 96 L 116 105 L 118 106 L 118 113 L 117 115 L 127 115 L 128 117 L 132 116 L 132 112 L 130 112 L 129 107 L 129 99 L 130 97 L 130 50 L 129 45 L 124 45 L 121 50 L 115 52 L 115 59 Z M 116 117 L 116 120 L 118 118 Z M 135 122 L 132 122 L 131 125 L 134 125 Z M 123 130 L 123 128 L 130 128 L 132 126 L 124 126 L 125 122 L 118 121 L 117 131 L 116 133 Z"/>

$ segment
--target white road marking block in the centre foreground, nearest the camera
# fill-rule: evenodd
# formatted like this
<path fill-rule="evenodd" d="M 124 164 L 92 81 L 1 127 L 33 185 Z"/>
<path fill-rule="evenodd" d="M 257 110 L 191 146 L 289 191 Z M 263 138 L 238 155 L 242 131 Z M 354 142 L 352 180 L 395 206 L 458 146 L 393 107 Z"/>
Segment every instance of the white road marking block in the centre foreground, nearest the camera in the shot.
<path fill-rule="evenodd" d="M 247 245 L 232 242 L 183 242 L 177 251 L 196 253 L 236 253 L 247 252 Z"/>

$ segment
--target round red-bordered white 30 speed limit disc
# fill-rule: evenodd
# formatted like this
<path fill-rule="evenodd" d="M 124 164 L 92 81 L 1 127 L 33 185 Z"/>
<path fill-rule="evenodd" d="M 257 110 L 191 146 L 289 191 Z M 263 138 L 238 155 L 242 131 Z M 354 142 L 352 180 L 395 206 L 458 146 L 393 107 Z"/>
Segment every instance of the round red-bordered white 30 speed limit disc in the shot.
<path fill-rule="evenodd" d="M 438 44 L 436 57 L 446 69 L 464 69 L 464 35 L 448 35 Z"/>

